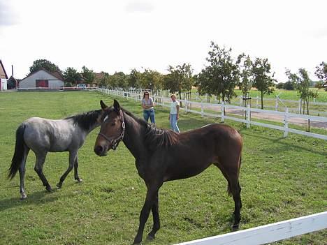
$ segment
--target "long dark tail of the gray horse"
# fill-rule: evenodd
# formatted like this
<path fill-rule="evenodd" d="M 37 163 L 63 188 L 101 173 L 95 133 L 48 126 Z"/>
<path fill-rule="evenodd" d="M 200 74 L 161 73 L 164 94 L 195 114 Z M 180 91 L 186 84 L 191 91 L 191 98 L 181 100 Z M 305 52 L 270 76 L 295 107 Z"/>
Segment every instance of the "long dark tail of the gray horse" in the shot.
<path fill-rule="evenodd" d="M 20 124 L 16 131 L 15 153 L 8 170 L 8 179 L 13 179 L 13 177 L 15 177 L 18 169 L 20 168 L 20 165 L 22 164 L 24 157 L 24 131 L 25 125 Z"/>

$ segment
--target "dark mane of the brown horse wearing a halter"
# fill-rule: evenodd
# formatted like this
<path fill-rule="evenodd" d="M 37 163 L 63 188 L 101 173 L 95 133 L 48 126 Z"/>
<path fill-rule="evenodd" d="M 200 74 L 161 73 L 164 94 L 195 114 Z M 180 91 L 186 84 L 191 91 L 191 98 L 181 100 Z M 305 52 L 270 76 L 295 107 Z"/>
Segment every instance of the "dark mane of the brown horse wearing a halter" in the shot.
<path fill-rule="evenodd" d="M 170 147 L 177 143 L 178 133 L 170 129 L 156 128 L 131 112 L 125 109 L 122 110 L 145 128 L 145 144 L 148 149 L 154 150 L 158 147 Z"/>

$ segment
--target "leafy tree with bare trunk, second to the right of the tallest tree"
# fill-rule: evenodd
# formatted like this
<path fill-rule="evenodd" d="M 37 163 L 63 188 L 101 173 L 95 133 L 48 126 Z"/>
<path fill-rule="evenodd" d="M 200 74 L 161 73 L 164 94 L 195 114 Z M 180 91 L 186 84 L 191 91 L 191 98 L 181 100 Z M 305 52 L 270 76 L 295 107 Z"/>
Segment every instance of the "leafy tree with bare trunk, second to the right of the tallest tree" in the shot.
<path fill-rule="evenodd" d="M 273 93 L 274 74 L 270 71 L 268 59 L 256 58 L 252 64 L 253 87 L 261 92 L 261 109 L 263 109 L 263 95 Z"/>

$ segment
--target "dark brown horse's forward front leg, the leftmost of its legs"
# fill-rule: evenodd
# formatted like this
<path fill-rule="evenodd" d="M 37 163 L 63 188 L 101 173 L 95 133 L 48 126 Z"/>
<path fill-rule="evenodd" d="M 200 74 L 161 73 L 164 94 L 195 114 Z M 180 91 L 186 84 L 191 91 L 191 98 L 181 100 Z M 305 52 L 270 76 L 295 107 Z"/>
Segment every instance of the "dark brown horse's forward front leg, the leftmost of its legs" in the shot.
<path fill-rule="evenodd" d="M 162 183 L 147 184 L 147 197 L 145 198 L 145 203 L 142 210 L 140 211 L 140 225 L 138 226 L 138 233 L 136 234 L 133 244 L 140 244 L 140 242 L 142 242 L 145 223 L 147 222 L 147 218 L 149 218 L 150 209 L 156 202 L 158 191 L 161 185 Z"/>

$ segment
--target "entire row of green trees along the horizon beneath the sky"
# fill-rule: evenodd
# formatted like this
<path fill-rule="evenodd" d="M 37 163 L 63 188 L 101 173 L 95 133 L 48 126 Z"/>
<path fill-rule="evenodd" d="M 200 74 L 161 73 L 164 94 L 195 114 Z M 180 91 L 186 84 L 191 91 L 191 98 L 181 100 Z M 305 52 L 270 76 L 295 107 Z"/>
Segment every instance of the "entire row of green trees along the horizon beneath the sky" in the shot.
<path fill-rule="evenodd" d="M 45 59 L 34 61 L 30 72 L 43 67 L 50 72 L 59 71 L 67 84 L 75 85 L 82 81 L 88 84 L 96 83 L 99 87 L 110 89 L 135 88 L 152 89 L 153 91 L 166 89 L 171 93 L 177 93 L 180 98 L 182 98 L 182 93 L 189 94 L 192 87 L 197 87 L 200 95 L 215 96 L 224 103 L 229 103 L 236 96 L 235 87 L 240 88 L 243 98 L 246 98 L 254 87 L 260 91 L 261 108 L 263 109 L 263 96 L 271 94 L 277 84 L 275 73 L 271 70 L 268 59 L 259 57 L 252 59 L 244 53 L 233 57 L 231 48 L 219 47 L 211 42 L 208 57 L 205 60 L 205 68 L 198 74 L 194 74 L 191 64 L 185 63 L 177 66 L 169 65 L 167 74 L 148 68 L 142 71 L 134 68 L 129 74 L 116 72 L 110 75 L 104 71 L 94 73 L 86 66 L 82 67 L 81 72 L 73 67 L 61 71 L 58 66 Z M 317 87 L 327 91 L 327 63 L 321 62 L 316 67 L 315 74 L 321 80 Z M 289 77 L 289 81 L 283 84 L 282 88 L 297 89 L 303 105 L 306 105 L 307 113 L 309 113 L 309 99 L 317 98 L 317 92 L 314 93 L 309 89 L 312 80 L 310 80 L 307 70 L 300 68 L 297 73 L 291 73 L 291 70 L 286 69 L 286 75 Z M 281 88 L 280 83 L 277 84 L 277 88 Z M 244 101 L 246 105 L 247 100 Z M 303 113 L 305 113 L 304 109 Z"/>

